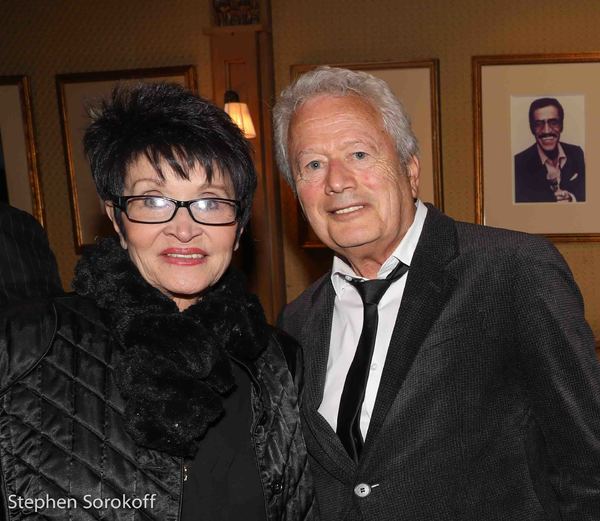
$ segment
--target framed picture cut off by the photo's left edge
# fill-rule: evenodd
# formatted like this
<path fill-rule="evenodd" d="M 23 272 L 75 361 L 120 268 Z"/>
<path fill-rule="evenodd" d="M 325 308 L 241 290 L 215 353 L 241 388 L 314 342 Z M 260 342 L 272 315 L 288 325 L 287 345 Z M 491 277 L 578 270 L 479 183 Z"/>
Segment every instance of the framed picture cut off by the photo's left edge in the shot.
<path fill-rule="evenodd" d="M 27 76 L 0 76 L 0 201 L 44 225 Z"/>

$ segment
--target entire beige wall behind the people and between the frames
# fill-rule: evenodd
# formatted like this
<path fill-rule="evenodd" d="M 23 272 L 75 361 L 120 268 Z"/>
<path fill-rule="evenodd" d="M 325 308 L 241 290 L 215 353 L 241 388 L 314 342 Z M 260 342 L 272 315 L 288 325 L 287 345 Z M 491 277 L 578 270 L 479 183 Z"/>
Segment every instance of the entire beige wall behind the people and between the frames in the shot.
<path fill-rule="evenodd" d="M 211 0 L 4 0 L 0 75 L 31 78 L 47 228 L 68 284 L 76 261 L 54 76 L 61 73 L 194 64 L 211 95 L 202 28 Z M 536 7 L 537 4 L 537 7 Z M 471 56 L 595 51 L 596 0 L 272 0 L 275 85 L 296 63 L 438 58 L 441 73 L 445 207 L 474 218 Z M 284 201 L 287 201 L 284 198 Z M 284 208 L 289 299 L 322 273 L 326 252 L 297 248 L 296 216 Z M 600 243 L 560 244 L 600 337 Z"/>

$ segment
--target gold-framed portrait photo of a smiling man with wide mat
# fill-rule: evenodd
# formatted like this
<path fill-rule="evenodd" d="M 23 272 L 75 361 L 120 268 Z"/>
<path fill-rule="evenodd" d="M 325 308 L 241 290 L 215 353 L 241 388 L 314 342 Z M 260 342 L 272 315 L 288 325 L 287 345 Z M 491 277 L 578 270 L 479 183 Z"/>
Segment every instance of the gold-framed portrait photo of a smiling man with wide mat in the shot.
<path fill-rule="evenodd" d="M 476 220 L 600 240 L 600 54 L 475 56 Z"/>

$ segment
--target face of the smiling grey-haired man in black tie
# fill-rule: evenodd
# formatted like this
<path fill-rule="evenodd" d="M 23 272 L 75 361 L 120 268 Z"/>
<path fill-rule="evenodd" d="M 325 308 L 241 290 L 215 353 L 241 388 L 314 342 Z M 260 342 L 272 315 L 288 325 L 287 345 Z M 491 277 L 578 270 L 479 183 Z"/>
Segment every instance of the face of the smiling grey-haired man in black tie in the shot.
<path fill-rule="evenodd" d="M 383 263 L 414 219 L 419 163 L 403 172 L 379 113 L 354 95 L 315 96 L 292 119 L 289 152 L 321 241 L 359 273 L 365 262 Z"/>

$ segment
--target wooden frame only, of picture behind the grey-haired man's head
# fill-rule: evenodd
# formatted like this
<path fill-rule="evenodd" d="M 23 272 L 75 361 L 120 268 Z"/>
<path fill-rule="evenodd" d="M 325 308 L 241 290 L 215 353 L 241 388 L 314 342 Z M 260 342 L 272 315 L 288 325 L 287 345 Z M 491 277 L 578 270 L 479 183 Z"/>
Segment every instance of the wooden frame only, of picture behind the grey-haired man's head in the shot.
<path fill-rule="evenodd" d="M 368 62 L 368 63 L 331 63 L 332 67 L 370 72 L 382 69 L 427 69 L 429 71 L 429 87 L 431 101 L 431 143 L 433 167 L 433 203 L 440 210 L 444 209 L 443 183 L 442 183 L 442 140 L 440 118 L 440 88 L 439 88 L 439 62 L 436 59 L 408 62 Z M 298 64 L 291 67 L 291 79 L 296 79 L 304 72 L 315 69 L 319 65 Z M 298 209 L 298 239 L 302 248 L 325 248 L 325 245 L 311 230 L 300 205 Z"/>

